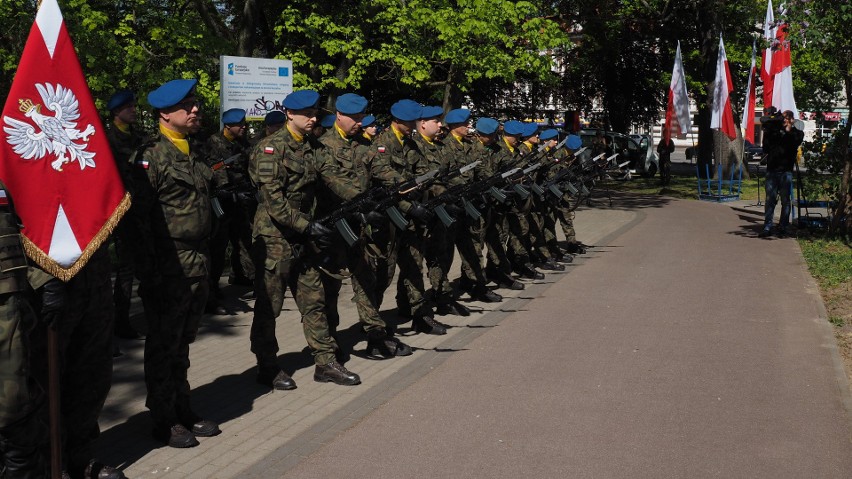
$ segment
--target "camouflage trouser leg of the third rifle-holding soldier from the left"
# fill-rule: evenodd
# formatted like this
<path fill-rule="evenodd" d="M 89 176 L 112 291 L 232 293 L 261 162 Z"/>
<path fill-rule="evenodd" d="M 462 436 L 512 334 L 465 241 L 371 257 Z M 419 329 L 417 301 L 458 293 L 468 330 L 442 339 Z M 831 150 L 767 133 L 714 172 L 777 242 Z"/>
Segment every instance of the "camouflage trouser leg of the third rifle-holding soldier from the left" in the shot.
<path fill-rule="evenodd" d="M 397 251 L 399 278 L 396 280 L 396 303 L 403 315 L 426 314 L 423 294 L 423 232 L 409 229 L 401 233 Z"/>

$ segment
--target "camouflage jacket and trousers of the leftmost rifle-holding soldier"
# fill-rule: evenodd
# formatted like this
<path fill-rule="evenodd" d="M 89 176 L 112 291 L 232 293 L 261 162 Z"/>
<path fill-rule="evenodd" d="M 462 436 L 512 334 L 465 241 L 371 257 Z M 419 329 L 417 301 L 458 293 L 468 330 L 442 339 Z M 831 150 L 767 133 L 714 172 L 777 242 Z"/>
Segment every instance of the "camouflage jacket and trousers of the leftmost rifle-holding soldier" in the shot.
<path fill-rule="evenodd" d="M 253 228 L 257 301 L 251 351 L 261 371 L 279 369 L 275 319 L 281 314 L 288 282 L 295 290 L 314 362 L 325 366 L 335 359 L 337 343 L 330 335 L 322 273 L 317 267 L 321 258 L 311 254 L 304 233 L 315 208 L 318 179 L 339 191 L 339 197 L 354 196 L 357 189 L 320 175 L 317 164 L 326 154 L 317 139 L 305 136 L 297 140 L 286 127 L 263 139 L 251 154 L 249 175 L 260 191 Z M 294 254 L 293 246 L 301 250 L 300 255 Z"/>

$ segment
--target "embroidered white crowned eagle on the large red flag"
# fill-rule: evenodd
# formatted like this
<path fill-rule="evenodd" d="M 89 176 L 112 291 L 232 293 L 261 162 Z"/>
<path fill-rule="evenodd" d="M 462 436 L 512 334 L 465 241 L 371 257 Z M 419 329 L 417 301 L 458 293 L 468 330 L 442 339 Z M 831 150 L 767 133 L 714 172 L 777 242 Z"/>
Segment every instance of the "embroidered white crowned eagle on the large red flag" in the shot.
<path fill-rule="evenodd" d="M 15 118 L 4 116 L 7 126 L 3 131 L 12 149 L 25 160 L 40 160 L 47 153 L 56 155 L 56 160 L 50 166 L 56 171 L 62 171 L 66 163 L 77 161 L 80 169 L 95 167 L 95 153 L 86 151 L 89 137 L 95 133 L 95 127 L 86 126 L 81 132 L 77 129 L 80 118 L 80 104 L 74 92 L 57 84 L 56 88 L 50 83 L 36 83 L 36 90 L 47 108 L 54 116 L 41 113 L 41 105 L 33 104 L 30 100 L 19 100 L 20 110 L 24 116 L 32 119 L 35 126 Z M 41 131 L 36 131 L 38 127 Z M 75 143 L 81 140 L 82 143 Z"/>

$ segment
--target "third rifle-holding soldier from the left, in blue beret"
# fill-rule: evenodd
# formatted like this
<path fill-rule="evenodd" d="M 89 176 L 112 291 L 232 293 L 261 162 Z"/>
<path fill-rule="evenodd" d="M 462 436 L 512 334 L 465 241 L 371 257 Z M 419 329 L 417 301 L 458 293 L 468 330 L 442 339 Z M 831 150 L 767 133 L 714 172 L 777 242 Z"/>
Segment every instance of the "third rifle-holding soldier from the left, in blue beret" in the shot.
<path fill-rule="evenodd" d="M 365 160 L 375 184 L 392 188 L 428 171 L 423 154 L 411 139 L 421 111 L 422 106 L 412 100 L 400 100 L 391 106 L 391 126 L 376 137 Z M 431 212 L 410 198 L 400 200 L 399 209 L 414 221 L 403 231 L 399 231 L 397 242 L 387 248 L 387 283 L 383 283 L 381 277 L 378 278 L 377 297 L 381 298 L 384 294 L 384 289 L 393 277 L 395 265 L 398 264 L 398 314 L 411 318 L 412 327 L 417 332 L 446 334 L 446 326 L 435 321 L 424 294 L 423 238 L 425 225 L 432 216 Z M 377 268 L 379 276 L 382 267 Z"/>

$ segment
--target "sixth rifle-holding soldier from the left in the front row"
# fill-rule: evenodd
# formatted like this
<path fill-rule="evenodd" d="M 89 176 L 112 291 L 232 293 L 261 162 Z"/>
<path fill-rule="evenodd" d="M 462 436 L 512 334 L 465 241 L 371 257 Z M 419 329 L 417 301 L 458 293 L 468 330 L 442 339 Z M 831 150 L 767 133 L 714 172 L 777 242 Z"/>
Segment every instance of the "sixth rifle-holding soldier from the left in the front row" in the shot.
<path fill-rule="evenodd" d="M 471 149 L 471 160 L 481 161 L 482 178 L 491 177 L 511 168 L 512 158 L 505 148 L 499 144 L 497 136 L 497 120 L 480 118 L 476 122 L 476 140 Z M 483 209 L 484 234 L 483 241 L 488 247 L 486 257 L 488 264 L 485 274 L 498 287 L 512 290 L 524 289 L 524 284 L 512 277 L 512 266 L 506 255 L 506 244 L 501 237 L 504 216 L 510 207 L 502 205 L 488 197 Z"/>

